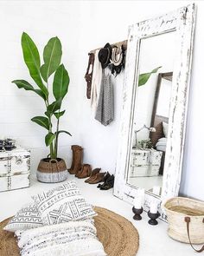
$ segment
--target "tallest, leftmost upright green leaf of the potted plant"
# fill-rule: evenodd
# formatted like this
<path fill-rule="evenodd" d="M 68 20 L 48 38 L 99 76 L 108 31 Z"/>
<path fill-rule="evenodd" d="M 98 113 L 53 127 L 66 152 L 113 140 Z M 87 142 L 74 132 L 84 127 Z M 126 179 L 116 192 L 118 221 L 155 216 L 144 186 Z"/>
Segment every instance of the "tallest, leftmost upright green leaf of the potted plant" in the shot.
<path fill-rule="evenodd" d="M 22 33 L 22 53 L 24 61 L 29 69 L 30 76 L 43 91 L 43 93 L 48 97 L 48 89 L 41 80 L 41 60 L 38 49 L 33 40 L 25 32 Z"/>

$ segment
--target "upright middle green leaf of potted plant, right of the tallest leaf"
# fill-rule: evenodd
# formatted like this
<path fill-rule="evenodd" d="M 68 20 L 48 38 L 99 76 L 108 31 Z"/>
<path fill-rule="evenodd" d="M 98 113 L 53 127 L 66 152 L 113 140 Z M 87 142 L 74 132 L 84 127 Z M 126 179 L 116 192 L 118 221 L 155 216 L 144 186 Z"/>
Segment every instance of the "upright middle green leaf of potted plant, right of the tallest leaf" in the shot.
<path fill-rule="evenodd" d="M 59 67 L 61 55 L 61 41 L 57 36 L 51 38 L 43 51 L 44 64 L 41 66 L 41 76 L 45 82 L 48 82 L 48 77 Z"/>

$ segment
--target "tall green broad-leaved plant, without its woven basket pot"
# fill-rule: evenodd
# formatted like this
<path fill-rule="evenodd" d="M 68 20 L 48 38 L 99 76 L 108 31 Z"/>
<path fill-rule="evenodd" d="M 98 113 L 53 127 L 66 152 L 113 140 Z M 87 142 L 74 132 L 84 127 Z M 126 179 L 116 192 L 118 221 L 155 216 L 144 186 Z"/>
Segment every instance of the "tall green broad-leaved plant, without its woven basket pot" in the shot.
<path fill-rule="evenodd" d="M 41 127 L 48 131 L 45 136 L 45 144 L 49 147 L 48 156 L 51 159 L 57 159 L 58 153 L 58 137 L 61 133 L 70 135 L 65 130 L 60 130 L 60 119 L 65 114 L 65 110 L 61 110 L 61 103 L 67 95 L 69 85 L 69 75 L 67 69 L 61 63 L 61 41 L 56 37 L 49 39 L 43 50 L 43 64 L 39 51 L 30 38 L 30 36 L 22 33 L 22 54 L 25 64 L 29 69 L 29 75 L 35 82 L 35 86 L 25 80 L 14 80 L 13 82 L 19 89 L 33 91 L 39 95 L 45 103 L 45 115 L 35 116 L 31 119 Z M 52 90 L 49 89 L 48 78 L 54 75 Z M 53 98 L 54 102 L 50 102 Z M 55 129 L 54 129 L 55 119 Z"/>

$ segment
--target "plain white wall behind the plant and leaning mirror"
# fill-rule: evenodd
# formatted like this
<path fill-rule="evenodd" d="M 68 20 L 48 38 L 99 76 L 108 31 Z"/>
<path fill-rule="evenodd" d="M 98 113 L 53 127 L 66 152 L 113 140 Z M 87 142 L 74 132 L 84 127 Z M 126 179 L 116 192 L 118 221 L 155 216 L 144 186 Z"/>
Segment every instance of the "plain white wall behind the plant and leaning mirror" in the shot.
<path fill-rule="evenodd" d="M 84 75 L 87 53 L 127 38 L 128 26 L 152 16 L 174 10 L 189 1 L 2 1 L 1 22 L 1 77 L 0 77 L 0 133 L 14 135 L 23 146 L 33 148 L 33 170 L 44 152 L 44 131 L 29 121 L 42 110 L 41 101 L 34 95 L 18 90 L 10 81 L 28 78 L 22 62 L 20 36 L 27 31 L 42 46 L 51 36 L 59 36 L 64 48 L 64 62 L 71 77 L 67 97 L 67 117 L 64 126 L 73 138 L 61 140 L 61 155 L 70 157 L 69 145 L 80 143 L 85 148 L 85 161 L 114 173 L 118 149 L 118 127 L 122 103 L 123 79 L 118 77 L 115 89 L 115 121 L 103 127 L 92 117 L 86 99 Z M 194 43 L 194 66 L 191 82 L 187 143 L 184 155 L 182 194 L 204 200 L 202 165 L 204 101 L 202 69 L 204 3 L 198 6 Z M 31 108 L 32 106 L 32 108 Z"/>

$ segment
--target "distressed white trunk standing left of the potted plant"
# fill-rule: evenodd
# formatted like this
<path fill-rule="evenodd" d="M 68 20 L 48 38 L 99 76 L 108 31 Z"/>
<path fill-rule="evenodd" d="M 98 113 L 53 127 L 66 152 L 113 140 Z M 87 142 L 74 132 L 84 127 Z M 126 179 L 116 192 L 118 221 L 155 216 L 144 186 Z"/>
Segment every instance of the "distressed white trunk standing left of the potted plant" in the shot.
<path fill-rule="evenodd" d="M 0 192 L 29 187 L 30 152 L 24 148 L 0 152 Z"/>

